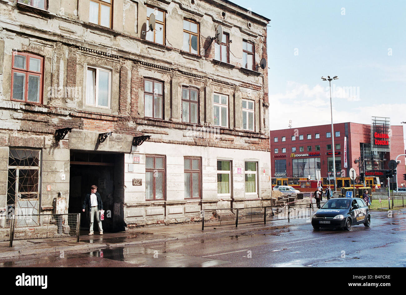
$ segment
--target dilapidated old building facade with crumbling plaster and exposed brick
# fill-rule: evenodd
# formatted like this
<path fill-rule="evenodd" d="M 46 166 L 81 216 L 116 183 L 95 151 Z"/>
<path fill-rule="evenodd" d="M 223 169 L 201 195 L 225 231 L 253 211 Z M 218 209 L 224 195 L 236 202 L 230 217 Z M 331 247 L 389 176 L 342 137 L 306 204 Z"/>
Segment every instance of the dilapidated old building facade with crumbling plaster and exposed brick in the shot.
<path fill-rule="evenodd" d="M 270 202 L 269 19 L 227 0 L 0 11 L 1 212 L 80 213 L 93 184 L 106 231 Z"/>

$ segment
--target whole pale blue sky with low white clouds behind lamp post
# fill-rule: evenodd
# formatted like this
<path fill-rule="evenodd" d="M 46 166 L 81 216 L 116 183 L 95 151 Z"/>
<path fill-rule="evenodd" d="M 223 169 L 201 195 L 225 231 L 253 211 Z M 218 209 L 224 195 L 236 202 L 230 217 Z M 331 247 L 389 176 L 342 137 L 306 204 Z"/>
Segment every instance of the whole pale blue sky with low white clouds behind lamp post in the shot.
<path fill-rule="evenodd" d="M 406 121 L 406 1 L 233 2 L 271 19 L 271 130 L 331 123 L 328 75 L 335 123 Z"/>

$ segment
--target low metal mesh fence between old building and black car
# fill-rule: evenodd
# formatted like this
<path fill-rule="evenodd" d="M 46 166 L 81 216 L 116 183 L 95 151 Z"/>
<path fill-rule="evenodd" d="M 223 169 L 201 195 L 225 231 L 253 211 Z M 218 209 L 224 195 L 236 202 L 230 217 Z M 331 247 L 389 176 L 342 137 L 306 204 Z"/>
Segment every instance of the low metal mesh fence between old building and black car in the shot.
<path fill-rule="evenodd" d="M 296 202 L 285 205 L 247 207 L 247 208 L 225 208 L 225 209 L 203 209 L 202 230 L 205 227 L 216 227 L 222 225 L 263 222 L 272 220 L 287 219 L 309 219 L 314 212 L 315 203 Z M 315 207 L 316 208 L 316 207 Z M 317 209 L 317 208 L 316 208 Z"/>

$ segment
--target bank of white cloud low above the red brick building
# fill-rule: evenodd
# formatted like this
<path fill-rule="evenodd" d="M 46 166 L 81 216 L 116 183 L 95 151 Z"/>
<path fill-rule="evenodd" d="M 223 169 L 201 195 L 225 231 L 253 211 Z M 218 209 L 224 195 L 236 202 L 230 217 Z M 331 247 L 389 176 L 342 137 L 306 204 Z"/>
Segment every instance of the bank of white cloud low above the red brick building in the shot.
<path fill-rule="evenodd" d="M 330 101 L 325 97 L 325 89 L 320 85 L 312 89 L 306 84 L 287 83 L 285 94 L 271 94 L 270 98 L 270 130 L 331 124 Z M 290 89 L 289 89 L 290 88 Z M 329 98 L 329 96 L 328 96 Z M 392 125 L 404 125 L 406 121 L 405 103 L 365 104 L 358 98 L 333 100 L 333 123 L 354 122 L 371 124 L 371 116 L 391 118 Z M 406 125 L 404 125 L 406 138 Z"/>

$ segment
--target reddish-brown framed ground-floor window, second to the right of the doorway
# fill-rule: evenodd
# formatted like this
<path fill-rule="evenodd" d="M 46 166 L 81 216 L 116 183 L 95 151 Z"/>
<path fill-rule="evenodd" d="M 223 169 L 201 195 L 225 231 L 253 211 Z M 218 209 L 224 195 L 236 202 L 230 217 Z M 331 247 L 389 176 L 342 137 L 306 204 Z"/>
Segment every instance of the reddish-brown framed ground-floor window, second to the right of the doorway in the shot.
<path fill-rule="evenodd" d="M 201 165 L 200 158 L 184 158 L 185 199 L 201 198 Z"/>

